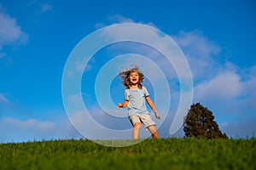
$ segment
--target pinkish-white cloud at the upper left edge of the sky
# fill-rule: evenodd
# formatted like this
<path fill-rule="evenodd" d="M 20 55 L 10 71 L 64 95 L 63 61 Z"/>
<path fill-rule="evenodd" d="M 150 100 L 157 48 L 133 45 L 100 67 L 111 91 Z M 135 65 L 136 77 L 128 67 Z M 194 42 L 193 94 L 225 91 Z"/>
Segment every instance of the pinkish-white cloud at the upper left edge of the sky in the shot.
<path fill-rule="evenodd" d="M 21 31 L 16 19 L 4 13 L 0 13 L 0 37 L 0 49 L 15 42 L 26 44 L 28 39 L 28 35 Z"/>

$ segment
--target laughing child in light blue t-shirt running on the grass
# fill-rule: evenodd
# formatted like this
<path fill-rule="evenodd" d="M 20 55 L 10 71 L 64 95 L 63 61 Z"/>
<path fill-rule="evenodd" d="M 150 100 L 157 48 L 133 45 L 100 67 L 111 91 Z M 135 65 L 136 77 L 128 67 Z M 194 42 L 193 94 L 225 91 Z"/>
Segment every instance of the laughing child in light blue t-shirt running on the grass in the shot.
<path fill-rule="evenodd" d="M 141 122 L 152 133 L 153 139 L 159 139 L 159 134 L 155 127 L 155 122 L 152 120 L 150 113 L 147 111 L 145 99 L 148 105 L 154 111 L 157 119 L 160 119 L 158 111 L 156 111 L 154 102 L 149 98 L 147 88 L 141 84 L 143 82 L 143 73 L 139 71 L 138 67 L 131 70 L 119 73 L 125 85 L 125 101 L 123 104 L 117 105 L 118 109 L 128 106 L 128 116 L 133 125 L 132 138 L 139 139 Z"/>

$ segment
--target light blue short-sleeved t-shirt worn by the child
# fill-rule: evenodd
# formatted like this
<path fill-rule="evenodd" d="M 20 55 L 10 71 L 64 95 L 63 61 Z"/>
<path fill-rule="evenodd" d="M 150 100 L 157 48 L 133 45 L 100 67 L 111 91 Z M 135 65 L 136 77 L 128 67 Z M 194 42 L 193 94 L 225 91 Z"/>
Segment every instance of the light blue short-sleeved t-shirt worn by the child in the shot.
<path fill-rule="evenodd" d="M 125 89 L 125 100 L 129 101 L 128 115 L 149 114 L 145 105 L 145 98 L 149 96 L 147 88 Z"/>

